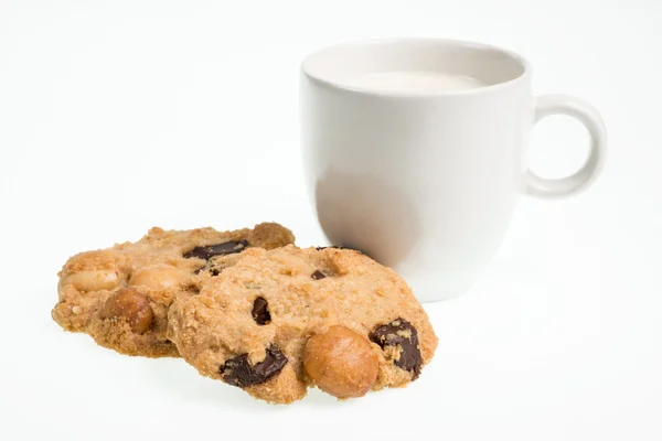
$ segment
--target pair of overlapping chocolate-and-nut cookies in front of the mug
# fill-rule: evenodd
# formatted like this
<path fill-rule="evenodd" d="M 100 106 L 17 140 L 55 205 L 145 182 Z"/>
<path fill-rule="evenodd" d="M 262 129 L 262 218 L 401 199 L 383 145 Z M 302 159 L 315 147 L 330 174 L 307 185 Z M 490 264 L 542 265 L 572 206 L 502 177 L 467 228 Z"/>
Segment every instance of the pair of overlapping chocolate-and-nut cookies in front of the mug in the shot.
<path fill-rule="evenodd" d="M 270 402 L 415 380 L 437 337 L 406 282 L 345 248 L 298 248 L 278 224 L 152 228 L 72 257 L 53 319 L 121 354 L 183 357 Z"/>

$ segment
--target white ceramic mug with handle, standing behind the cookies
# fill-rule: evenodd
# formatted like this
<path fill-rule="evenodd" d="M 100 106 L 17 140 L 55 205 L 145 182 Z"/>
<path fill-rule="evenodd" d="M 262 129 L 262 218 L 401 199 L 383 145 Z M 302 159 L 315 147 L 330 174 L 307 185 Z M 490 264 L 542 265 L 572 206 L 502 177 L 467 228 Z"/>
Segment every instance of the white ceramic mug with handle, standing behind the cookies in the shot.
<path fill-rule="evenodd" d="M 366 76 L 429 73 L 482 87 L 376 87 Z M 532 173 L 533 125 L 564 114 L 591 136 L 569 178 Z M 463 293 L 495 254 L 522 193 L 566 196 L 605 161 L 597 111 L 567 96 L 533 97 L 531 66 L 489 45 L 437 39 L 345 43 L 302 63 L 305 172 L 320 225 L 334 245 L 394 268 L 420 301 Z"/>

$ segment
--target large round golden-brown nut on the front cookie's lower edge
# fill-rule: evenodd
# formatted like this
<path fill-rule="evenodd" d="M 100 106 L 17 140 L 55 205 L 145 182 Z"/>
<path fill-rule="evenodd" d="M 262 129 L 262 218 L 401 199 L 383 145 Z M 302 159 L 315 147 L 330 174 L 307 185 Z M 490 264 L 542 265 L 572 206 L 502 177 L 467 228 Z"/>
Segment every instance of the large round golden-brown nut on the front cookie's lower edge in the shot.
<path fill-rule="evenodd" d="M 327 394 L 353 398 L 372 388 L 378 362 L 365 337 L 344 326 L 332 326 L 308 341 L 303 368 Z"/>

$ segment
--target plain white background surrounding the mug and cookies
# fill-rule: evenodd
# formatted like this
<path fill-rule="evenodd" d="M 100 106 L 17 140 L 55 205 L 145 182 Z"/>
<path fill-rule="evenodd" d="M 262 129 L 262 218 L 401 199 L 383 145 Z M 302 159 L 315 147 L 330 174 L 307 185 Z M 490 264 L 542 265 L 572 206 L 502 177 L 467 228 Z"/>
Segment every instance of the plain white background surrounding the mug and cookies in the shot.
<path fill-rule="evenodd" d="M 662 439 L 661 22 L 656 0 L 1 1 L 0 439 Z M 153 225 L 323 243 L 299 62 L 407 35 L 520 52 L 535 93 L 585 98 L 610 135 L 594 187 L 524 197 L 478 284 L 426 305 L 439 347 L 418 381 L 269 406 L 52 322 L 71 255 Z M 567 174 L 586 143 L 547 120 L 532 164 Z"/>

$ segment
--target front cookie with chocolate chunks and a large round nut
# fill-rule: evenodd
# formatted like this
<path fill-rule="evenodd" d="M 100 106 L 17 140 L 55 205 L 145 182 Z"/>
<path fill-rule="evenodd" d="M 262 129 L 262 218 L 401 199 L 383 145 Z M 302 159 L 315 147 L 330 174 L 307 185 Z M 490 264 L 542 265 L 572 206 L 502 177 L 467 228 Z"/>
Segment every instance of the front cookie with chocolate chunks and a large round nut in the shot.
<path fill-rule="evenodd" d="M 350 249 L 248 249 L 170 309 L 168 335 L 202 375 L 270 402 L 340 399 L 416 380 L 437 336 L 406 282 Z"/>

